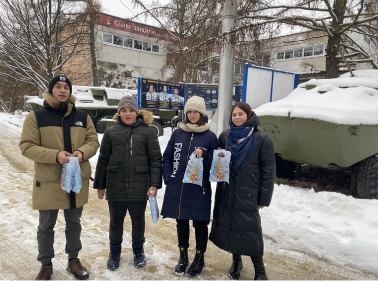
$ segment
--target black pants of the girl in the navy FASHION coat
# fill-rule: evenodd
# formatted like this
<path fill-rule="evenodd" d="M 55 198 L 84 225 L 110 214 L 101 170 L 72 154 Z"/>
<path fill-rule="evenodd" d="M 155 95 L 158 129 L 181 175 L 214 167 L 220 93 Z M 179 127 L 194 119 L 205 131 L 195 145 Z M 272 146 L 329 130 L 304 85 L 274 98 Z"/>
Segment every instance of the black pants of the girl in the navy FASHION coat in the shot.
<path fill-rule="evenodd" d="M 189 220 L 176 220 L 178 246 L 189 245 Z M 193 221 L 193 227 L 196 233 L 196 248 L 206 252 L 208 241 L 208 226 L 206 221 Z"/>

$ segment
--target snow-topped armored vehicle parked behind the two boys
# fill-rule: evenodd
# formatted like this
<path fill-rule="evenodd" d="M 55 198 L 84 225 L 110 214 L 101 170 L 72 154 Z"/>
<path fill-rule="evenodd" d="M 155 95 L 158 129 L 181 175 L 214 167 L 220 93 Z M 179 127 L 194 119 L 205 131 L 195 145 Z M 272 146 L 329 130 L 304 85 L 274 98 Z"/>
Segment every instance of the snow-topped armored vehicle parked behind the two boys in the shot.
<path fill-rule="evenodd" d="M 76 97 L 76 107 L 91 116 L 98 133 L 103 133 L 108 126 L 114 124 L 113 115 L 117 112 L 119 100 L 123 96 L 137 96 L 137 90 L 115 89 L 106 87 L 72 86 L 72 94 Z M 43 106 L 43 99 L 25 96 L 27 109 L 34 110 Z M 151 124 L 158 136 L 163 135 L 163 128 L 172 130 L 181 121 L 181 112 L 174 110 L 151 110 L 154 122 Z"/>

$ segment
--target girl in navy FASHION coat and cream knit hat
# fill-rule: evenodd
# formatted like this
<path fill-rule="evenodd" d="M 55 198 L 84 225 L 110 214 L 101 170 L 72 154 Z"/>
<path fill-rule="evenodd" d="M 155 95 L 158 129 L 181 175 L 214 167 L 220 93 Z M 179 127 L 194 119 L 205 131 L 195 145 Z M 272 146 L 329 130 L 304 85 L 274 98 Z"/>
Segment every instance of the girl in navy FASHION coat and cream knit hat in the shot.
<path fill-rule="evenodd" d="M 189 221 L 193 221 L 196 233 L 196 255 L 186 274 L 195 277 L 205 267 L 204 253 L 208 242 L 208 225 L 211 214 L 211 185 L 209 182 L 213 151 L 218 148 L 217 136 L 206 123 L 205 100 L 193 96 L 187 100 L 184 112 L 186 119 L 169 139 L 163 154 L 163 179 L 166 184 L 161 215 L 176 219 L 180 252 L 174 273 L 185 274 L 189 263 Z M 182 183 L 186 165 L 192 153 L 203 157 L 204 172 L 202 186 Z"/>

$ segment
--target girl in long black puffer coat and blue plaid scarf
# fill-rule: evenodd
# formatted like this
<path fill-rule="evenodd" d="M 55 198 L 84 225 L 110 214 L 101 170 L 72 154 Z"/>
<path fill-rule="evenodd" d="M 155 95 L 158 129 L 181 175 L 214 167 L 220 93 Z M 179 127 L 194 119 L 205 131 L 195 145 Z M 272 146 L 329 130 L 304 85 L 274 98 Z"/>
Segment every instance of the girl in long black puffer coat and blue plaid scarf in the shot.
<path fill-rule="evenodd" d="M 217 185 L 210 240 L 232 253 L 232 279 L 240 277 L 241 255 L 254 263 L 255 280 L 268 279 L 259 209 L 272 200 L 276 166 L 272 140 L 258 125 L 250 106 L 240 102 L 231 109 L 230 128 L 218 138 L 231 152 L 230 183 Z"/>

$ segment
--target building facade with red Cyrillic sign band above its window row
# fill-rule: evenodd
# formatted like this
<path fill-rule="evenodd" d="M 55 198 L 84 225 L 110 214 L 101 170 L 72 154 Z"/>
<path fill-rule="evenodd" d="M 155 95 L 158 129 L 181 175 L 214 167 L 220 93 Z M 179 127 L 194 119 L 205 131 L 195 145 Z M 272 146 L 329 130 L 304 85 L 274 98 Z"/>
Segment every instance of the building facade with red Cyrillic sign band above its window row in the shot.
<path fill-rule="evenodd" d="M 94 34 L 98 86 L 135 90 L 138 77 L 167 79 L 166 46 L 175 39 L 165 30 L 96 12 Z M 92 86 L 90 54 L 81 60 L 79 72 L 90 75 L 74 82 Z"/>

